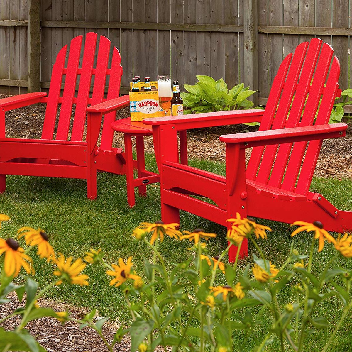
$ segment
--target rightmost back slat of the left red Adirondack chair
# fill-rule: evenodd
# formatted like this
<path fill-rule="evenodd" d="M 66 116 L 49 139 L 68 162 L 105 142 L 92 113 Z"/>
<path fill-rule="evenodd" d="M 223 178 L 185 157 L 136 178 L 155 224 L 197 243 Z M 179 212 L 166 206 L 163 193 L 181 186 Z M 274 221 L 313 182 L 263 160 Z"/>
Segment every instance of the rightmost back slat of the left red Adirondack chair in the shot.
<path fill-rule="evenodd" d="M 109 89 L 107 94 L 108 100 L 117 98 L 119 96 L 122 72 L 123 71 L 121 66 L 121 55 L 117 50 L 117 48 L 114 46 L 112 61 L 111 61 Z M 114 131 L 111 128 L 111 124 L 112 122 L 115 121 L 115 119 L 116 119 L 115 111 L 110 112 L 104 116 L 103 130 L 101 133 L 101 142 L 100 142 L 100 147 L 103 150 L 106 150 L 112 145 Z"/>

